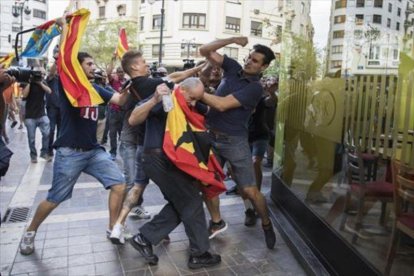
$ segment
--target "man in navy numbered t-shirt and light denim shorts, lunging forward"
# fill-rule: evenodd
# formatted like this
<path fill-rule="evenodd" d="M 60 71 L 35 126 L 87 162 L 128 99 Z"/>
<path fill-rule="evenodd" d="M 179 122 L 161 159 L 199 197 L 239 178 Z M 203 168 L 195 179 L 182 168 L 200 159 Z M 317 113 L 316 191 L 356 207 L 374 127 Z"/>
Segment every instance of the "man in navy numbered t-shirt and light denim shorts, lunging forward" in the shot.
<path fill-rule="evenodd" d="M 78 54 L 79 63 L 89 80 L 94 78 L 96 69 L 92 57 L 84 52 Z M 106 103 L 124 104 L 128 93 L 111 93 L 102 87 L 94 88 Z M 61 111 L 60 135 L 54 147 L 56 149 L 53 164 L 53 181 L 46 200 L 37 207 L 36 214 L 26 229 L 20 243 L 20 252 L 30 255 L 34 252 L 34 239 L 40 224 L 63 201 L 70 199 L 76 180 L 81 172 L 94 176 L 109 194 L 110 235 L 125 195 L 125 180 L 117 164 L 96 140 L 98 106 L 73 107 L 59 82 L 59 108 Z"/>

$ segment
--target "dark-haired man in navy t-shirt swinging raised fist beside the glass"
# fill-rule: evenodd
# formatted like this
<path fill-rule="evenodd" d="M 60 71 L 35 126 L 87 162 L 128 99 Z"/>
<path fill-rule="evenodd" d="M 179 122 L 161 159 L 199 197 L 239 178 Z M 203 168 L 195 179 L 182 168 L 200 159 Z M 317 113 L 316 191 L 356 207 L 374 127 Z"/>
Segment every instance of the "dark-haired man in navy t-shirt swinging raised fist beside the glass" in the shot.
<path fill-rule="evenodd" d="M 256 44 L 242 67 L 237 61 L 216 52 L 233 43 L 244 47 L 248 40 L 247 37 L 232 37 L 219 39 L 200 47 L 201 55 L 224 71 L 215 95 L 204 93 L 202 101 L 211 107 L 206 114 L 206 123 L 211 133 L 213 148 L 222 162 L 230 163 L 239 191 L 244 199 L 249 200 L 245 201 L 246 207 L 251 208 L 253 204 L 262 219 L 266 245 L 271 249 L 276 243 L 276 236 L 269 218 L 266 200 L 255 182 L 248 143 L 248 120 L 263 95 L 263 87 L 259 82 L 260 75 L 275 55 L 270 48 Z M 210 238 L 213 238 L 227 226 L 220 216 L 218 197 L 206 201 L 206 204 L 211 214 Z M 246 215 L 250 214 L 246 213 Z"/>

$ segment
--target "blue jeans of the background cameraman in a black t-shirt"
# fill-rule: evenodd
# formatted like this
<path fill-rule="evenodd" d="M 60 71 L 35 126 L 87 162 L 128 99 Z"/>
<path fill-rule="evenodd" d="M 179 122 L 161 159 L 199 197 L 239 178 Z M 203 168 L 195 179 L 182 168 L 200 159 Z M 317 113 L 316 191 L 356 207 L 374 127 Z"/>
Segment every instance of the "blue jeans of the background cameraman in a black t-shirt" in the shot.
<path fill-rule="evenodd" d="M 49 118 L 45 115 L 40 118 L 32 119 L 26 118 L 24 120 L 24 124 L 27 128 L 27 138 L 29 141 L 29 148 L 30 148 L 30 157 L 32 159 L 37 158 L 37 151 L 35 146 L 36 140 L 36 128 L 40 129 L 42 133 L 42 148 L 40 150 L 41 155 L 46 155 L 49 153 Z"/>

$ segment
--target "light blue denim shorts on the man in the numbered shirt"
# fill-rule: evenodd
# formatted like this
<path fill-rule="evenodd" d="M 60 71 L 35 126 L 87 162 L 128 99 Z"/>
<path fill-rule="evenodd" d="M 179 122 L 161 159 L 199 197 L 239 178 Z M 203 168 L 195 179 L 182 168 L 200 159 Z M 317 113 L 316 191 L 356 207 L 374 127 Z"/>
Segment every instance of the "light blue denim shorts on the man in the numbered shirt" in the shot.
<path fill-rule="evenodd" d="M 125 183 L 118 165 L 103 148 L 79 151 L 61 147 L 56 151 L 52 187 L 49 189 L 47 201 L 59 204 L 70 199 L 81 172 L 95 177 L 105 189 Z"/>

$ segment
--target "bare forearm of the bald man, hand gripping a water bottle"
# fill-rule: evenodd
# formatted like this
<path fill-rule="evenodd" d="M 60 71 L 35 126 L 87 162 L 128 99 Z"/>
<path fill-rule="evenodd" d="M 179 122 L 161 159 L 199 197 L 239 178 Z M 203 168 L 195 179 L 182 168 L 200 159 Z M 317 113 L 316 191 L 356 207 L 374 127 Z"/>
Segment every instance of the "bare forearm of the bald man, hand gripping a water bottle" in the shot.
<path fill-rule="evenodd" d="M 129 116 L 128 123 L 131 126 L 135 126 L 144 122 L 151 112 L 151 109 L 153 109 L 154 106 L 156 106 L 161 101 L 162 95 L 166 95 L 167 93 L 169 93 L 169 89 L 164 83 L 158 85 L 154 95 L 149 101 L 134 108 L 131 115 Z"/>

